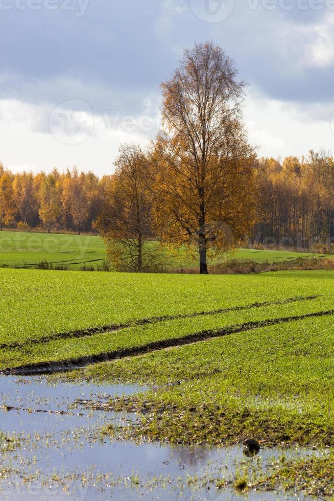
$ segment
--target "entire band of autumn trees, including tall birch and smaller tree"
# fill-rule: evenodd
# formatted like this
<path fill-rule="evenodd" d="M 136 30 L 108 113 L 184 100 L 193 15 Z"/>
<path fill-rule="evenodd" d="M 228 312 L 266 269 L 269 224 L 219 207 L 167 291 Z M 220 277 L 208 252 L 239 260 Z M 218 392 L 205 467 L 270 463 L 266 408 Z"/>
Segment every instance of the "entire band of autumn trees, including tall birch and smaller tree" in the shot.
<path fill-rule="evenodd" d="M 243 123 L 245 83 L 212 42 L 185 50 L 161 85 L 162 129 L 144 151 L 125 144 L 99 179 L 76 168 L 12 174 L 0 166 L 0 226 L 98 230 L 120 270 L 152 270 L 156 246 L 199 256 L 250 239 L 305 247 L 334 237 L 333 159 L 258 158 Z"/>

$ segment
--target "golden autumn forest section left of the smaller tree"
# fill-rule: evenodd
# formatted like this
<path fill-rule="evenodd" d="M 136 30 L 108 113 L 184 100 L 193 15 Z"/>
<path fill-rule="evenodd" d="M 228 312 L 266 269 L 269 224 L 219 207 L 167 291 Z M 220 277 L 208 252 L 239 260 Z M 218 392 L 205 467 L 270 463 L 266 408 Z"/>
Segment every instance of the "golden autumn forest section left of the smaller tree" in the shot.
<path fill-rule="evenodd" d="M 41 227 L 61 231 L 94 230 L 110 176 L 99 179 L 77 168 L 60 173 L 13 174 L 0 163 L 0 230 Z"/>

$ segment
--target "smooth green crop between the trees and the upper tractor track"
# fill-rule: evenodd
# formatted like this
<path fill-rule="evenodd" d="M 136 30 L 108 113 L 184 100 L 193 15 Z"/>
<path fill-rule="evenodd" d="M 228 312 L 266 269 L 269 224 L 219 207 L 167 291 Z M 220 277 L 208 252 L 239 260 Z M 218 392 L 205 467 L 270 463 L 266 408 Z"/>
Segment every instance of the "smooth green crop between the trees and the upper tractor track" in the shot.
<path fill-rule="evenodd" d="M 296 296 L 323 295 L 318 309 L 330 309 L 333 277 L 325 271 L 199 277 L 0 269 L 0 345 Z M 294 311 L 306 311 L 314 301 L 300 302 Z"/>

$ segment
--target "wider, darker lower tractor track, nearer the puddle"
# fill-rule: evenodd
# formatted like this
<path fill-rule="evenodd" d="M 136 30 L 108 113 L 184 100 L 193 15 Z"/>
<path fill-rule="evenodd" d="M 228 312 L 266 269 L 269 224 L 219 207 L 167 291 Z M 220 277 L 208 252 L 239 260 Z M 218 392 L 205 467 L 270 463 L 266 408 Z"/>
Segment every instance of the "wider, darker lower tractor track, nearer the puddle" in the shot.
<path fill-rule="evenodd" d="M 188 334 L 182 338 L 176 337 L 170 339 L 163 339 L 160 341 L 151 341 L 146 345 L 113 350 L 109 353 L 87 355 L 63 361 L 40 362 L 31 365 L 5 369 L 3 371 L 0 371 L 0 374 L 28 376 L 37 374 L 51 374 L 56 372 L 65 372 L 74 369 L 84 368 L 93 365 L 95 363 L 107 362 L 126 357 L 139 356 L 146 353 L 165 350 L 169 348 L 177 348 L 184 345 L 199 343 L 201 341 L 206 341 L 218 337 L 224 337 L 231 334 L 252 331 L 255 329 L 259 329 L 261 327 L 270 327 L 278 324 L 297 322 L 300 320 L 305 320 L 306 318 L 315 318 L 329 315 L 334 315 L 334 309 L 326 311 L 316 311 L 314 313 L 305 313 L 304 315 L 268 318 L 267 320 L 231 325 L 229 327 L 224 327 L 222 329 L 217 329 L 217 330 L 203 330 L 193 334 Z"/>

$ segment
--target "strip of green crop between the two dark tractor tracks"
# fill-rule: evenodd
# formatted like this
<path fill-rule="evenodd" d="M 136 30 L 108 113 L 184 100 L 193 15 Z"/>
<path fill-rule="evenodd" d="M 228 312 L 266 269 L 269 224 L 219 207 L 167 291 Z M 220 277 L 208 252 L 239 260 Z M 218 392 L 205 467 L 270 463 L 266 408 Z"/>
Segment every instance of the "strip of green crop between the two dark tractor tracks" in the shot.
<path fill-rule="evenodd" d="M 322 308 L 326 308 L 323 310 Z M 195 317 L 179 318 L 178 320 L 163 320 L 148 325 L 139 325 L 105 333 L 86 334 L 82 337 L 71 337 L 71 334 L 59 339 L 44 342 L 27 339 L 19 346 L 3 348 L 0 369 L 20 367 L 32 363 L 61 362 L 76 360 L 89 355 L 106 354 L 113 356 L 128 356 L 136 354 L 141 349 L 152 351 L 156 348 L 187 343 L 224 334 L 234 335 L 234 330 L 253 329 L 254 322 L 280 322 L 281 318 L 302 316 L 327 311 L 334 308 L 333 301 L 324 298 L 296 301 L 287 304 L 249 308 L 240 311 L 228 311 L 220 314 L 203 314 Z M 333 309 L 334 313 L 334 309 Z M 79 334 L 80 335 L 80 334 Z M 193 337 L 192 337 L 193 336 Z"/>

